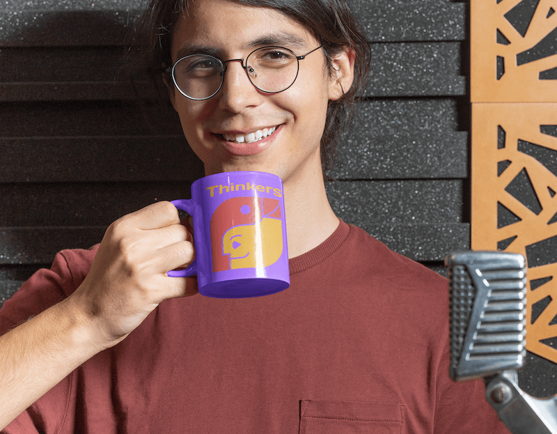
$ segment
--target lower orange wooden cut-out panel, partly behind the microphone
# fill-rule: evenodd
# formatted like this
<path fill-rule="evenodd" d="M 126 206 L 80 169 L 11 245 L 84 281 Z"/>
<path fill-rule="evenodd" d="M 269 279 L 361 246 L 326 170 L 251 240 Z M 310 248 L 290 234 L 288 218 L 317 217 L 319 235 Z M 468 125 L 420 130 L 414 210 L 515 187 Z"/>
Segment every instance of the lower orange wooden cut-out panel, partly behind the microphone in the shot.
<path fill-rule="evenodd" d="M 472 249 L 527 256 L 528 246 L 557 236 L 557 103 L 472 104 L 471 161 Z M 524 199 L 515 187 L 528 184 L 532 192 Z M 526 348 L 557 363 L 557 348 L 541 342 L 557 336 L 557 324 L 550 325 L 557 316 L 557 262 L 538 265 L 528 264 Z M 550 277 L 531 289 L 532 281 Z M 532 323 L 532 305 L 548 295 L 551 302 Z"/>

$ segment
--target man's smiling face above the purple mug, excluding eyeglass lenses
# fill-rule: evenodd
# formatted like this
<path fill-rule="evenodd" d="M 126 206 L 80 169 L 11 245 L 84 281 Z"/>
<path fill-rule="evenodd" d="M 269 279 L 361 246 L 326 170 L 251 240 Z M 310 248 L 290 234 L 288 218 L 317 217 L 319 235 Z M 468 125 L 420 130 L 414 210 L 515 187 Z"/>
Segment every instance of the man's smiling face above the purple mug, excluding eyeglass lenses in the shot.
<path fill-rule="evenodd" d="M 268 45 L 286 47 L 297 56 L 319 47 L 304 27 L 269 8 L 242 6 L 228 0 L 198 0 L 178 18 L 173 31 L 173 61 L 187 54 L 214 53 L 221 61 L 246 59 Z M 348 55 L 334 62 L 351 61 Z M 346 65 L 341 64 L 341 69 Z M 294 84 L 281 93 L 255 88 L 240 62 L 227 63 L 221 90 L 209 100 L 189 100 L 177 89 L 173 105 L 180 115 L 186 139 L 205 164 L 205 174 L 256 170 L 275 173 L 283 180 L 318 173 L 320 139 L 329 100 L 340 98 L 338 77 L 329 77 L 322 49 L 299 61 Z M 350 71 L 349 71 L 350 72 Z M 340 74 L 343 76 L 346 74 Z M 350 74 L 348 74 L 350 75 Z M 341 77 L 342 78 L 342 77 Z M 247 143 L 257 134 L 267 137 Z M 265 130 L 267 129 L 267 130 Z M 244 136 L 231 140 L 237 135 Z"/>

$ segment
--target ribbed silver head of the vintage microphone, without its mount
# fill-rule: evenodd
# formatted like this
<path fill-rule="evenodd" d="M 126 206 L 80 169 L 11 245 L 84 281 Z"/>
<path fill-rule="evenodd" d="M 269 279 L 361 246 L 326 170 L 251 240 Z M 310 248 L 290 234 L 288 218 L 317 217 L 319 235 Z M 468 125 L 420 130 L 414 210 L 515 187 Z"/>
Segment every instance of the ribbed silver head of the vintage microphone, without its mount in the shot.
<path fill-rule="evenodd" d="M 519 369 L 526 357 L 524 257 L 460 251 L 446 257 L 450 302 L 450 378 Z"/>

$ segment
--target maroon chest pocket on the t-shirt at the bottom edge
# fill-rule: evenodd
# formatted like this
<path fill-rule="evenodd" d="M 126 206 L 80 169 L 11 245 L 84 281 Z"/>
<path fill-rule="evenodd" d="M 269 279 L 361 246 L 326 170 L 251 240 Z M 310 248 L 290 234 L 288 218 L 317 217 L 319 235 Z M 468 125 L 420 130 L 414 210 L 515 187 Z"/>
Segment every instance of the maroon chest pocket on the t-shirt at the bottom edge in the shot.
<path fill-rule="evenodd" d="M 304 400 L 299 434 L 400 434 L 404 412 L 394 403 Z"/>

